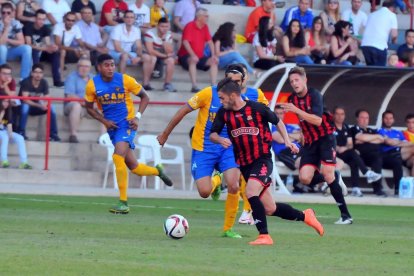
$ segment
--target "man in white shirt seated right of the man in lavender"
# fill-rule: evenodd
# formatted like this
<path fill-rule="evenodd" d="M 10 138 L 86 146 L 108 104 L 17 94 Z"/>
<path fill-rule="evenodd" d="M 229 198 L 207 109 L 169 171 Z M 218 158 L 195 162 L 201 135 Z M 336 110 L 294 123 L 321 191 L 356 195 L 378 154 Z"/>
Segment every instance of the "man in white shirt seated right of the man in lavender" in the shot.
<path fill-rule="evenodd" d="M 122 74 L 126 72 L 127 65 L 138 65 L 142 58 L 141 31 L 134 26 L 134 22 L 134 13 L 125 11 L 124 23 L 113 28 L 108 42 L 109 54 L 119 63 Z"/>

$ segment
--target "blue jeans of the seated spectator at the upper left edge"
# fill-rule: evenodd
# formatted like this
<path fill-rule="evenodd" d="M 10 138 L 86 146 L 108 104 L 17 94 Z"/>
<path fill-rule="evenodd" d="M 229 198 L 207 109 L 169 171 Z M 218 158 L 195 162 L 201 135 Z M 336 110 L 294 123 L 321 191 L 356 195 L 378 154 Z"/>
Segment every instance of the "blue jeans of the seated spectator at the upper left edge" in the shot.
<path fill-rule="evenodd" d="M 0 45 L 0 65 L 17 58 L 21 60 L 20 80 L 23 80 L 30 76 L 32 70 L 32 48 L 29 45 L 11 47 Z"/>

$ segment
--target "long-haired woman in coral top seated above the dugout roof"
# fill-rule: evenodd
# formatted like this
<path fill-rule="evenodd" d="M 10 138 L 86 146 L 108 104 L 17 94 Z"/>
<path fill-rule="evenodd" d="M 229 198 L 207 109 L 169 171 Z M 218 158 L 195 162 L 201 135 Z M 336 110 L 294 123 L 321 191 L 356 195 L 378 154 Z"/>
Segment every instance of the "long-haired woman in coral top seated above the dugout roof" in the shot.
<path fill-rule="evenodd" d="M 305 33 L 306 43 L 309 46 L 312 60 L 317 64 L 326 64 L 329 55 L 329 44 L 326 40 L 322 18 L 316 16 L 312 28 Z"/>

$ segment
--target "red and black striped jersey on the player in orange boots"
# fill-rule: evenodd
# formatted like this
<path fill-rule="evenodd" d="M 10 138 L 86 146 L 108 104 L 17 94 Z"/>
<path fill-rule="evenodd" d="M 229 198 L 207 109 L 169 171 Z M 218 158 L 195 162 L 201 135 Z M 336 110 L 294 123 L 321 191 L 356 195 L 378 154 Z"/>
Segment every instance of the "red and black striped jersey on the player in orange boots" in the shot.
<path fill-rule="evenodd" d="M 211 133 L 220 133 L 227 126 L 229 138 L 233 143 L 236 162 L 246 166 L 256 159 L 271 155 L 272 133 L 269 122 L 277 125 L 279 118 L 264 104 L 246 101 L 240 110 L 225 110 L 217 112 Z"/>

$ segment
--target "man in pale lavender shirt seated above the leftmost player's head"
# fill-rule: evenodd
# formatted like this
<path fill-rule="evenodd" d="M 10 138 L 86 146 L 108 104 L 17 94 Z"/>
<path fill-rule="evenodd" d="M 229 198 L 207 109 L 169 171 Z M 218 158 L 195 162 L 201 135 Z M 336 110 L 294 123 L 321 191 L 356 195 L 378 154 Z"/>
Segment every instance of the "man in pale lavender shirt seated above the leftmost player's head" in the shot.
<path fill-rule="evenodd" d="M 82 41 L 86 50 L 89 51 L 92 65 L 95 65 L 98 56 L 100 54 L 106 54 L 109 51 L 105 46 L 105 41 L 108 40 L 108 34 L 93 22 L 93 10 L 89 6 L 83 7 L 80 14 L 81 20 L 76 22 L 76 26 L 78 26 L 81 32 Z"/>

